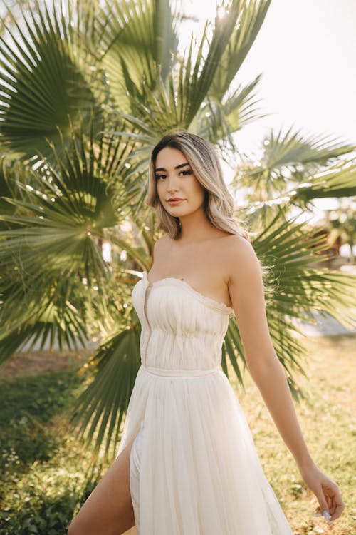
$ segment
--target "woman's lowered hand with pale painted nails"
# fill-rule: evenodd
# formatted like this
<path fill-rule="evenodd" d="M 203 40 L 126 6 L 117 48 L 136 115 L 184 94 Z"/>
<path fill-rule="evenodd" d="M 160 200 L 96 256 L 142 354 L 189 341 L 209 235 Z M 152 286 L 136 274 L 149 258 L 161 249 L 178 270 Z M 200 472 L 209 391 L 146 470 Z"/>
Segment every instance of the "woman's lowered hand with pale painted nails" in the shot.
<path fill-rule="evenodd" d="M 315 464 L 310 464 L 305 468 L 299 467 L 299 470 L 305 484 L 318 499 L 319 506 L 315 511 L 315 516 L 323 515 L 326 521 L 338 519 L 345 509 L 345 504 L 335 481 L 325 475 Z"/>

